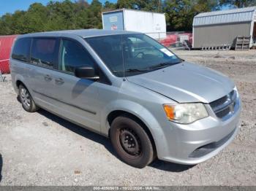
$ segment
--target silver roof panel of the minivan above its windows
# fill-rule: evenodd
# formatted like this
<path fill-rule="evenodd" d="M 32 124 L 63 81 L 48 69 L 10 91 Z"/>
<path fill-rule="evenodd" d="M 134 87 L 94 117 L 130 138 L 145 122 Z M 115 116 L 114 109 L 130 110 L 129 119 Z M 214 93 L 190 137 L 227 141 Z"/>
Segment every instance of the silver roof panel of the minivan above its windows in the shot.
<path fill-rule="evenodd" d="M 40 32 L 34 34 L 23 34 L 20 35 L 22 37 L 33 37 L 33 36 L 69 36 L 77 35 L 83 38 L 93 37 L 93 36 L 107 36 L 107 35 L 115 35 L 115 34 L 138 34 L 138 32 L 132 31 L 111 31 L 111 30 L 103 30 L 103 29 L 80 29 L 80 30 L 68 30 L 68 31 L 49 31 L 49 32 Z"/>

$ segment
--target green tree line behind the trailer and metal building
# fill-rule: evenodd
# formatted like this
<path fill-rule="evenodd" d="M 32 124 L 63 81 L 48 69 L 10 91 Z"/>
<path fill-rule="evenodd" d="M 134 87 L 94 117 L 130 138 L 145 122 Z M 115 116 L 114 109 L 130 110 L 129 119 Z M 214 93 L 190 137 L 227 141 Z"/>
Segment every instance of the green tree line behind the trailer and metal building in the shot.
<path fill-rule="evenodd" d="M 27 34 L 80 28 L 102 28 L 101 13 L 113 9 L 139 9 L 165 12 L 167 31 L 192 31 L 193 17 L 223 7 L 256 6 L 256 0 L 98 0 L 50 1 L 46 6 L 31 4 L 26 11 L 17 10 L 0 17 L 0 35 Z"/>

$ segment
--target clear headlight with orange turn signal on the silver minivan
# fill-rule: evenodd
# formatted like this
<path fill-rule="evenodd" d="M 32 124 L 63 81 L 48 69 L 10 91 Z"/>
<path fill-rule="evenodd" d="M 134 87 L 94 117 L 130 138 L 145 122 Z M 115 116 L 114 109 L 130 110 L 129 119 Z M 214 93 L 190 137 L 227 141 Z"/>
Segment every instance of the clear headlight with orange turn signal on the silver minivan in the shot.
<path fill-rule="evenodd" d="M 208 117 L 206 107 L 201 103 L 165 104 L 164 109 L 168 120 L 181 124 L 188 124 Z"/>

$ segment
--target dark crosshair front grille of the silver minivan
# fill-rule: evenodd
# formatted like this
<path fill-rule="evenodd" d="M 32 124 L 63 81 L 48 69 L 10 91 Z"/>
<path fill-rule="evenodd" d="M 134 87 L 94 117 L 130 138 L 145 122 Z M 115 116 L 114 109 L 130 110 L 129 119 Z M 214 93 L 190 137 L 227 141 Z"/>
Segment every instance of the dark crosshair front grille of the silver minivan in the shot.
<path fill-rule="evenodd" d="M 232 90 L 224 97 L 219 98 L 217 101 L 211 102 L 210 106 L 214 110 L 217 117 L 221 119 L 227 117 L 229 114 L 232 114 L 234 112 L 234 107 L 236 106 L 236 90 Z"/>

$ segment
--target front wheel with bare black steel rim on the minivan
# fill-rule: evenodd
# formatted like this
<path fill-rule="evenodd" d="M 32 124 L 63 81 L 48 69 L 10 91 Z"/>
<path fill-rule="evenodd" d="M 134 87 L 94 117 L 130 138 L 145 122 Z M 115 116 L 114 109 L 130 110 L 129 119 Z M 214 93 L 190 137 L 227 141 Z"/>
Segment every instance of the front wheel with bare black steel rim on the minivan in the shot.
<path fill-rule="evenodd" d="M 143 168 L 154 160 L 151 139 L 133 117 L 116 117 L 111 124 L 110 139 L 118 157 L 128 165 Z"/>

